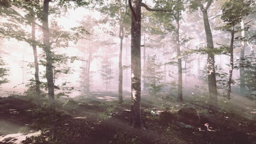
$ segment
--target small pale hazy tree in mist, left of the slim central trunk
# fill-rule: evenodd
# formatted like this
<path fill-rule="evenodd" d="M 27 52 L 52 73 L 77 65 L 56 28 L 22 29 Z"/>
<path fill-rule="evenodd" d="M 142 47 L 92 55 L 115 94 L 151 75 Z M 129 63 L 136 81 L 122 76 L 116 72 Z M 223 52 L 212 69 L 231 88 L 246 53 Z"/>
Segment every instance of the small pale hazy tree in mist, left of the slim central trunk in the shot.
<path fill-rule="evenodd" d="M 101 61 L 101 77 L 106 84 L 106 92 L 108 91 L 108 86 L 110 80 L 113 79 L 113 70 L 112 70 L 112 63 L 108 57 L 104 57 Z"/>

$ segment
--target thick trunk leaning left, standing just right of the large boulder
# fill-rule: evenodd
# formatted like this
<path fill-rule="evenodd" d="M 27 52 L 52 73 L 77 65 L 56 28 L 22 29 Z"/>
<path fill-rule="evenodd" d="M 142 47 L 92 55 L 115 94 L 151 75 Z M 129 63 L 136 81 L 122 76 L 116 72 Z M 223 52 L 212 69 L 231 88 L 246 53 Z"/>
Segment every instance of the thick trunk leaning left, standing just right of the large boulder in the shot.
<path fill-rule="evenodd" d="M 205 25 L 205 33 L 206 33 L 206 41 L 207 41 L 207 49 L 214 49 L 213 39 L 211 27 L 208 20 L 207 9 L 202 10 L 203 13 L 203 23 Z M 214 55 L 212 53 L 208 53 L 207 57 L 207 77 L 208 77 L 208 89 L 210 93 L 210 109 L 218 110 L 218 93 L 217 93 L 217 85 L 216 85 L 216 74 L 215 74 L 215 65 L 214 65 Z"/>

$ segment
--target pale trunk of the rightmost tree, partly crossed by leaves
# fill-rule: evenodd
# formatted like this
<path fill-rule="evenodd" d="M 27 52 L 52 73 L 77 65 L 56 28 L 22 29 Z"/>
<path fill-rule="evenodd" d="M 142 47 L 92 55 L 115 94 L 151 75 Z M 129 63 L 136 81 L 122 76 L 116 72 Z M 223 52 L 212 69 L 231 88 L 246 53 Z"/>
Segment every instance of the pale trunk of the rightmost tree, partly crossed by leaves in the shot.
<path fill-rule="evenodd" d="M 241 21 L 241 29 L 245 29 L 245 23 L 244 21 Z M 245 31 L 243 30 L 241 32 L 241 51 L 240 51 L 240 63 L 243 63 L 243 59 L 245 58 Z M 245 68 L 240 67 L 240 93 L 244 97 L 246 92 L 245 87 Z"/>

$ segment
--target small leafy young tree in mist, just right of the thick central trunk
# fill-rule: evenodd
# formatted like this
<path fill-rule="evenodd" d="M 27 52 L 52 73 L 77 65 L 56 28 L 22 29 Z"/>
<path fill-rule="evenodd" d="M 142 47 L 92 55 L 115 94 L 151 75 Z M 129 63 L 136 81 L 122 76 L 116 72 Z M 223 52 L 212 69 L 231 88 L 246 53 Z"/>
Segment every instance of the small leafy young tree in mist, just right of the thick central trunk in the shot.
<path fill-rule="evenodd" d="M 161 70 L 161 66 L 162 64 L 157 62 L 156 55 L 148 56 L 143 77 L 147 80 L 146 87 L 153 99 L 161 91 L 161 88 L 165 86 L 162 82 L 164 71 Z"/>

